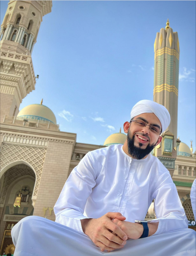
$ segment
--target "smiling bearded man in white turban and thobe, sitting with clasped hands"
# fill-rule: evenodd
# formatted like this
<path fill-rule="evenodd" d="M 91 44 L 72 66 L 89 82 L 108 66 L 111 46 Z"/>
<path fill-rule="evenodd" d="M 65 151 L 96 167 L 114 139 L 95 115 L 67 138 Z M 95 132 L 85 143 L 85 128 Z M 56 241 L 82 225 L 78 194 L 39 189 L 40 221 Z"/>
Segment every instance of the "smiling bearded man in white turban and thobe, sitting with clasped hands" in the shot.
<path fill-rule="evenodd" d="M 57 223 L 31 216 L 13 227 L 14 255 L 195 255 L 171 175 L 150 154 L 169 124 L 164 106 L 138 102 L 124 145 L 91 151 L 74 168 L 54 207 Z M 142 222 L 153 199 L 157 219 Z"/>

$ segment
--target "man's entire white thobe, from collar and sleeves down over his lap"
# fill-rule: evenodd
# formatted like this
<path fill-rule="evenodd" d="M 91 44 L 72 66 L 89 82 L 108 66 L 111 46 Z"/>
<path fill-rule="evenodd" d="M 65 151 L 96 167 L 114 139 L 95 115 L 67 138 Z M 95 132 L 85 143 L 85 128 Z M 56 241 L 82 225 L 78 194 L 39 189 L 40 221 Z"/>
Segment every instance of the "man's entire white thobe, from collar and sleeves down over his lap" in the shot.
<path fill-rule="evenodd" d="M 121 212 L 126 221 L 144 220 L 155 199 L 159 222 L 153 236 L 128 240 L 121 256 L 195 256 L 195 231 L 188 221 L 169 171 L 149 155 L 136 160 L 122 145 L 89 152 L 74 168 L 54 207 L 56 223 L 38 216 L 22 219 L 11 230 L 14 256 L 100 256 L 84 234 L 81 219 Z M 25 243 L 24 243 L 25 241 Z"/>

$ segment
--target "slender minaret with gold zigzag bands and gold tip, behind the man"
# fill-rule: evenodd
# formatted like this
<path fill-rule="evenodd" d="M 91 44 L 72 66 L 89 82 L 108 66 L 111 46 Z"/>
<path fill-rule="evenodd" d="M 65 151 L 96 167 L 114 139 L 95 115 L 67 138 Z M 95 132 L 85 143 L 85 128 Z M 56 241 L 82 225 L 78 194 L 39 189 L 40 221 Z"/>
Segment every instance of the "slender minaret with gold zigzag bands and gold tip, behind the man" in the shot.
<path fill-rule="evenodd" d="M 154 51 L 154 101 L 165 106 L 171 116 L 171 123 L 163 133 L 162 143 L 157 147 L 155 155 L 166 162 L 171 160 L 170 166 L 165 166 L 173 169 L 176 158 L 180 49 L 178 33 L 173 32 L 169 20 L 165 29 L 162 28 L 156 33 Z"/>

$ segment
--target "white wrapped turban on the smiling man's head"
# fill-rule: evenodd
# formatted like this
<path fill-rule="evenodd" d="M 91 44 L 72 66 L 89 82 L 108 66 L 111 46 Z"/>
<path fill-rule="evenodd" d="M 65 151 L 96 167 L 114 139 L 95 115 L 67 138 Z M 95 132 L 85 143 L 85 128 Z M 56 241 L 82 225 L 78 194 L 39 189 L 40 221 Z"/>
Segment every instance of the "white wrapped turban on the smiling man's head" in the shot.
<path fill-rule="evenodd" d="M 170 113 L 167 108 L 155 101 L 140 100 L 131 110 L 131 119 L 143 113 L 154 113 L 161 123 L 162 132 L 164 132 L 170 124 Z"/>

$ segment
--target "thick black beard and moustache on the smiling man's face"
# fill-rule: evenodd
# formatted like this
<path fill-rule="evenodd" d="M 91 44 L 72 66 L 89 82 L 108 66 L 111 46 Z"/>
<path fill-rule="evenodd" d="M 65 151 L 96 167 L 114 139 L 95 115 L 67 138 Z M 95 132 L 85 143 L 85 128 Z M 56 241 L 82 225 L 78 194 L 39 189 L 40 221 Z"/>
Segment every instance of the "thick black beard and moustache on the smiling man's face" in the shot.
<path fill-rule="evenodd" d="M 156 143 L 154 145 L 148 144 L 148 146 L 144 149 L 138 148 L 134 145 L 135 136 L 132 136 L 132 138 L 129 136 L 129 131 L 127 133 L 127 145 L 128 145 L 128 153 L 131 155 L 131 157 L 135 159 L 143 159 L 145 156 L 150 154 L 150 152 L 155 148 Z M 141 147 L 143 144 L 139 143 L 139 147 Z"/>

